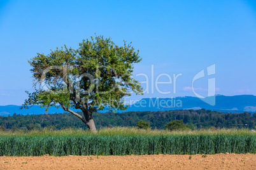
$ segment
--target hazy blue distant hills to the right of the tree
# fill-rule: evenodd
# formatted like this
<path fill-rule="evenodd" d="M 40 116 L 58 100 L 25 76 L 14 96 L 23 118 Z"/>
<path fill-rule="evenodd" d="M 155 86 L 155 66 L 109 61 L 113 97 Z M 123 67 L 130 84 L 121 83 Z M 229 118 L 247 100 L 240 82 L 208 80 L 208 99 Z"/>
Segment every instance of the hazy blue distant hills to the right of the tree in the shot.
<path fill-rule="evenodd" d="M 213 97 L 208 97 L 212 100 Z M 186 96 L 176 98 L 143 98 L 140 101 L 129 106 L 129 111 L 158 111 L 158 110 L 198 110 L 206 108 L 221 112 L 241 113 L 256 112 L 256 96 L 215 96 L 216 104 L 214 106 L 205 103 L 199 98 Z"/>

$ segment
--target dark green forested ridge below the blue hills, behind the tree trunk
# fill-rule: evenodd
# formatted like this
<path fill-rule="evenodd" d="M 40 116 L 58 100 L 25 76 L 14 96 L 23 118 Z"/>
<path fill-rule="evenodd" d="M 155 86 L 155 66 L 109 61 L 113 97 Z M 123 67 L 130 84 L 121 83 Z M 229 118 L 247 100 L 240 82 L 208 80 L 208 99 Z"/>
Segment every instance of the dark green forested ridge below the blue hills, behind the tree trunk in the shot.
<path fill-rule="evenodd" d="M 82 115 L 82 113 L 79 113 Z M 202 128 L 250 128 L 256 129 L 256 114 L 243 112 L 231 114 L 211 110 L 169 110 L 169 111 L 143 111 L 123 113 L 94 113 L 97 128 L 105 126 L 136 126 L 138 121 L 150 122 L 152 129 L 164 129 L 164 126 L 173 120 L 183 120 L 187 125 L 196 129 Z M 249 124 L 249 127 L 245 124 Z M 0 126 L 5 129 L 40 129 L 40 128 L 86 128 L 80 119 L 69 113 L 17 115 L 0 117 Z"/>

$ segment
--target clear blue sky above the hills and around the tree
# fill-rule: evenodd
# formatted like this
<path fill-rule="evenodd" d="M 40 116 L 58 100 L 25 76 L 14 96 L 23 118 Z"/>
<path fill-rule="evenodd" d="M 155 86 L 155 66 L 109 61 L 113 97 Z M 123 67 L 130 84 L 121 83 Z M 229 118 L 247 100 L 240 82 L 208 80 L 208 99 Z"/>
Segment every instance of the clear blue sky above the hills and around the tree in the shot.
<path fill-rule="evenodd" d="M 255 1 L 0 1 L 0 105 L 21 105 L 32 91 L 27 62 L 50 49 L 77 48 L 82 39 L 103 35 L 122 46 L 125 40 L 143 58 L 136 74 L 154 77 L 182 74 L 173 84 L 159 85 L 162 95 L 194 96 L 192 79 L 216 64 L 217 94 L 256 95 Z M 136 77 L 145 81 L 143 76 Z M 159 81 L 166 81 L 161 77 Z M 151 82 L 150 82 L 151 83 Z M 207 77 L 195 82 L 195 90 L 207 93 Z M 143 84 L 145 87 L 145 84 Z M 145 87 L 146 88 L 146 87 Z M 155 88 L 154 88 L 155 91 Z"/>

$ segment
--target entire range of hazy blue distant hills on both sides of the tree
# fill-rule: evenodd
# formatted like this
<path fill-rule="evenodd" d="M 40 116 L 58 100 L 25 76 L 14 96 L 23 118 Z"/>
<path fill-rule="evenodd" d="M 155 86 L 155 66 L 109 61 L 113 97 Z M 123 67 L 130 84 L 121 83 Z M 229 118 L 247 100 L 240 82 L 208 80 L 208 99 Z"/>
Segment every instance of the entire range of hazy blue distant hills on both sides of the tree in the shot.
<path fill-rule="evenodd" d="M 208 99 L 212 99 L 209 97 Z M 160 111 L 160 110 L 199 110 L 201 108 L 215 110 L 220 112 L 256 112 L 256 96 L 253 95 L 238 95 L 238 96 L 215 96 L 216 105 L 211 106 L 208 103 L 192 96 L 176 97 L 176 98 L 143 98 L 138 102 L 129 105 L 127 110 L 118 112 L 131 112 L 131 111 Z M 75 110 L 79 111 L 79 110 Z M 107 112 L 107 110 L 103 110 Z M 50 107 L 48 112 L 45 108 L 34 106 L 29 109 L 20 110 L 20 106 L 6 105 L 0 106 L 0 116 L 8 116 L 13 114 L 31 115 L 31 114 L 55 114 L 64 113 L 62 108 Z"/>

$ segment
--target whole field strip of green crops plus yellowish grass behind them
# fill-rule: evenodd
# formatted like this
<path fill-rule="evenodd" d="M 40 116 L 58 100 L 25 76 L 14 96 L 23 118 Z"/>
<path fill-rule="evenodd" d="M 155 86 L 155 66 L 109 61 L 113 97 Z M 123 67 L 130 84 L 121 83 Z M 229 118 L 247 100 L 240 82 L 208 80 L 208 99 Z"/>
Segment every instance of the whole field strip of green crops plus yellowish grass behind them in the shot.
<path fill-rule="evenodd" d="M 144 155 L 144 154 L 256 154 L 252 131 L 159 131 L 136 128 L 101 129 L 97 134 L 62 131 L 2 132 L 0 155 Z"/>

